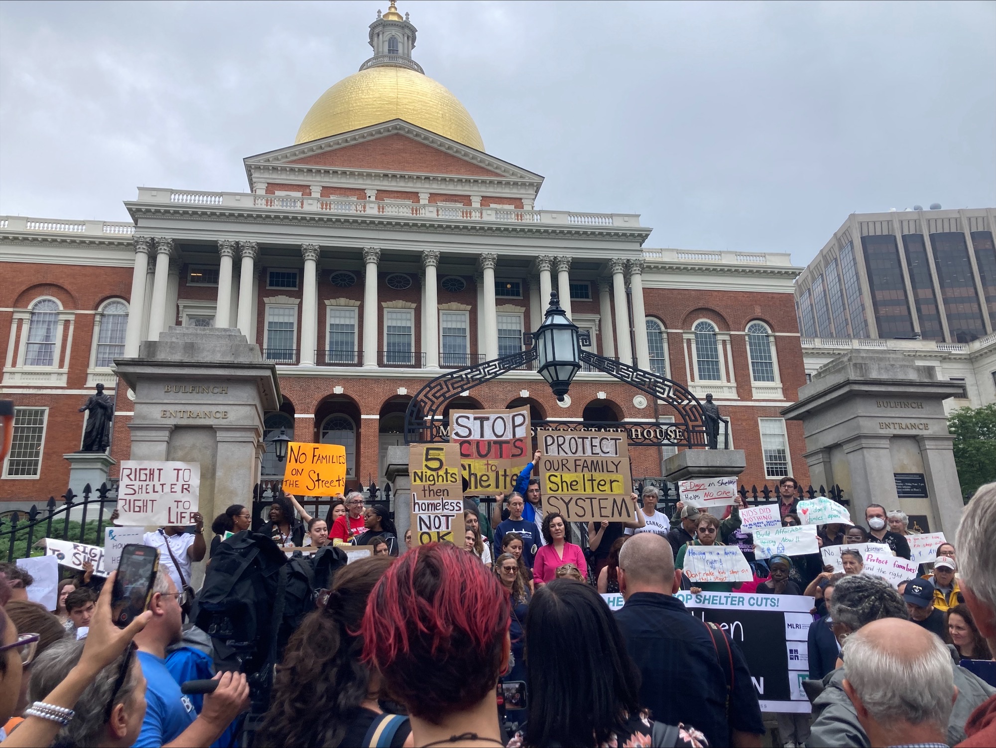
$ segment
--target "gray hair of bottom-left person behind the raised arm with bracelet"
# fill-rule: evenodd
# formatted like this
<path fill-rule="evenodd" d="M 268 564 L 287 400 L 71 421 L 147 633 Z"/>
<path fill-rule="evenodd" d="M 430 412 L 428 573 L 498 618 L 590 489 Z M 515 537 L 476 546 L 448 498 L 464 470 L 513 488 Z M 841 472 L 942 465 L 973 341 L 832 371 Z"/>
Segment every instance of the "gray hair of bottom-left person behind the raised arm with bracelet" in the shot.
<path fill-rule="evenodd" d="M 38 659 L 31 666 L 31 682 L 28 686 L 29 702 L 42 701 L 65 680 L 69 671 L 80 661 L 85 643 L 85 641 L 76 641 L 72 638 L 60 639 L 38 655 Z M 60 745 L 101 745 L 105 742 L 106 723 L 104 715 L 107 712 L 108 703 L 111 702 L 111 694 L 115 690 L 118 674 L 121 672 L 122 657 L 126 656 L 127 651 L 91 679 L 80 698 L 77 699 L 74 707 L 76 716 L 59 731 L 55 743 Z M 133 657 L 130 665 L 131 672 L 124 678 L 122 687 L 115 694 L 115 704 L 126 702 L 134 691 L 138 681 L 136 670 L 141 667 L 137 662 L 137 656 Z"/>

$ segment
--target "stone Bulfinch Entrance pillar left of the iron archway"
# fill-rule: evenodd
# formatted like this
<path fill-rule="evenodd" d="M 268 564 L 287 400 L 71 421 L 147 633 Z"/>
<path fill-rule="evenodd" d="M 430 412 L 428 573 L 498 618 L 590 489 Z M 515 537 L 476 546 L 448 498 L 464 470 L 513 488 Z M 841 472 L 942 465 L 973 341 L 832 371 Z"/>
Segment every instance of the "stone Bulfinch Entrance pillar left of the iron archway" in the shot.
<path fill-rule="evenodd" d="M 263 418 L 280 408 L 277 368 L 259 346 L 237 329 L 170 327 L 116 364 L 134 392 L 130 459 L 200 463 L 206 529 L 229 505 L 249 506 Z"/>

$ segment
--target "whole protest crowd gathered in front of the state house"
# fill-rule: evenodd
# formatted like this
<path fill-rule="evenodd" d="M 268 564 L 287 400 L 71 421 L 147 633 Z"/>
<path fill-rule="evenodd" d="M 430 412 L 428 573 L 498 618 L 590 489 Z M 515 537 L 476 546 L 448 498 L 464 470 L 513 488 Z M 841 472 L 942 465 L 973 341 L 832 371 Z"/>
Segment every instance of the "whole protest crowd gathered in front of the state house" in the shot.
<path fill-rule="evenodd" d="M 145 533 L 158 571 L 125 627 L 118 571 L 85 564 L 50 611 L 0 564 L 0 745 L 996 745 L 996 484 L 955 543 L 923 544 L 876 504 L 809 522 L 829 500 L 792 478 L 763 508 L 682 496 L 667 517 L 648 486 L 629 519 L 573 521 L 540 459 L 493 511 L 464 497 L 450 539 L 399 537 L 359 493 Z M 805 602 L 779 613 L 806 619 L 792 709 L 740 624 L 704 614 L 755 596 Z"/>

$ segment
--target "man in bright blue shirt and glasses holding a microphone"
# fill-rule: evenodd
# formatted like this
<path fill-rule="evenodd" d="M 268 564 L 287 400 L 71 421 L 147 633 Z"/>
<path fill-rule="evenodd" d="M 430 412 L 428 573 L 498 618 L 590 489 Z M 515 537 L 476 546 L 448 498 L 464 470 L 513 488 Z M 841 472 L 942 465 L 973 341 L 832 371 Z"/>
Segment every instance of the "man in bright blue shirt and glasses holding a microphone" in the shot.
<path fill-rule="evenodd" d="M 249 686 L 242 673 L 216 676 L 220 683 L 214 693 L 204 696 L 198 716 L 188 696 L 166 669 L 166 647 L 179 641 L 182 611 L 172 578 L 160 567 L 152 585 L 148 609 L 152 617 L 134 637 L 138 661 L 145 676 L 145 718 L 135 741 L 137 748 L 170 746 L 209 746 L 228 724 L 249 708 Z"/>

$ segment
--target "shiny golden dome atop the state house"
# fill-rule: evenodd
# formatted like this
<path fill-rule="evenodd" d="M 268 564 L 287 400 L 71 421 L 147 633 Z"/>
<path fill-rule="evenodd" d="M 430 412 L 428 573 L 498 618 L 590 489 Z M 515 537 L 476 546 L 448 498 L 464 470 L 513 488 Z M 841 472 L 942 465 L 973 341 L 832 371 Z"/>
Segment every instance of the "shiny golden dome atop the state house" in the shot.
<path fill-rule="evenodd" d="M 305 116 L 295 144 L 389 120 L 405 122 L 484 151 L 467 110 L 445 86 L 407 68 L 379 66 L 354 73 L 326 91 Z"/>

